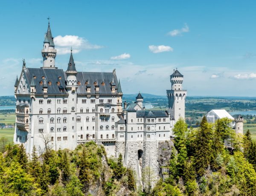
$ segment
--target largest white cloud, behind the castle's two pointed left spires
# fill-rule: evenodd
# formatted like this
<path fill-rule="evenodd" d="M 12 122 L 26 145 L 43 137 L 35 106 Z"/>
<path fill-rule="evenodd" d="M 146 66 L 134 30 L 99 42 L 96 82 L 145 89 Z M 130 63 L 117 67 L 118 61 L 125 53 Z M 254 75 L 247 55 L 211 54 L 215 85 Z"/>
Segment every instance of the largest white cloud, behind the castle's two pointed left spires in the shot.
<path fill-rule="evenodd" d="M 58 55 L 64 55 L 70 53 L 70 48 L 73 48 L 73 53 L 78 53 L 82 49 L 100 49 L 103 46 L 94 45 L 88 42 L 88 40 L 77 35 L 58 35 L 54 38 Z"/>

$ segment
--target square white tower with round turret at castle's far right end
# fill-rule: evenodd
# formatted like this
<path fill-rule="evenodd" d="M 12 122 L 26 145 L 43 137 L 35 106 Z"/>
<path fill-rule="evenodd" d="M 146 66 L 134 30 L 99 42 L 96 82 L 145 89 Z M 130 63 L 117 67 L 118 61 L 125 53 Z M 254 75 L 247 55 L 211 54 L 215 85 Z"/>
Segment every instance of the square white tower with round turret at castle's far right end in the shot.
<path fill-rule="evenodd" d="M 183 75 L 176 69 L 170 75 L 172 89 L 166 90 L 168 97 L 169 112 L 175 122 L 179 118 L 185 119 L 185 99 L 187 91 L 182 89 Z"/>

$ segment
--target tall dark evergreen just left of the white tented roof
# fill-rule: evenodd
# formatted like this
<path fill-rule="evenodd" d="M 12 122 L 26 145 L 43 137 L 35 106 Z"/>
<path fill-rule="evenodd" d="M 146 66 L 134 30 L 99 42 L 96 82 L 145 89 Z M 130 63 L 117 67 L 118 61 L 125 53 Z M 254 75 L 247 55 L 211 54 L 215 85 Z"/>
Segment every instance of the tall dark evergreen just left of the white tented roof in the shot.
<path fill-rule="evenodd" d="M 203 176 L 205 169 L 210 164 L 212 155 L 212 127 L 204 118 L 201 121 L 200 129 L 195 138 L 195 168 L 199 176 Z"/>

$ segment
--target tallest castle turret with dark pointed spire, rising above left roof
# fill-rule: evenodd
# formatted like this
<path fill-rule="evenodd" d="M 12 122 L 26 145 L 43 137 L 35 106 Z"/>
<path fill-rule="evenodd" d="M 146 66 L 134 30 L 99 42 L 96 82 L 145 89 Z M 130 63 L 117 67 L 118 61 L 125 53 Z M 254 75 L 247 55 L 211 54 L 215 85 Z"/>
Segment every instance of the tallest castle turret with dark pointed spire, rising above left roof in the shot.
<path fill-rule="evenodd" d="M 50 29 L 50 22 L 48 22 L 48 29 L 44 39 L 44 48 L 42 49 L 43 68 L 55 68 L 56 49 L 53 42 L 52 32 Z"/>

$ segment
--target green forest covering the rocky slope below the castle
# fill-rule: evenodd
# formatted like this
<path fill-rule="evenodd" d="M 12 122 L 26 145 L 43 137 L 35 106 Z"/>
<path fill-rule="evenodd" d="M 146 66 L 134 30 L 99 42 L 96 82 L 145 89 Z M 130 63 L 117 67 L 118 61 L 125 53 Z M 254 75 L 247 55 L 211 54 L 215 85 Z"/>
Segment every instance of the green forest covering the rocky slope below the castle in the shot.
<path fill-rule="evenodd" d="M 174 146 L 155 187 L 124 167 L 122 156 L 107 158 L 93 141 L 75 150 L 52 150 L 47 144 L 30 157 L 23 145 L 0 139 L 0 195 L 127 195 L 127 196 L 251 196 L 256 195 L 256 143 L 250 132 L 236 135 L 230 120 L 207 123 L 198 129 L 183 119 L 174 127 Z M 149 168 L 150 170 L 150 168 Z M 145 172 L 143 171 L 144 176 Z M 163 177 L 165 176 L 165 177 Z"/>

